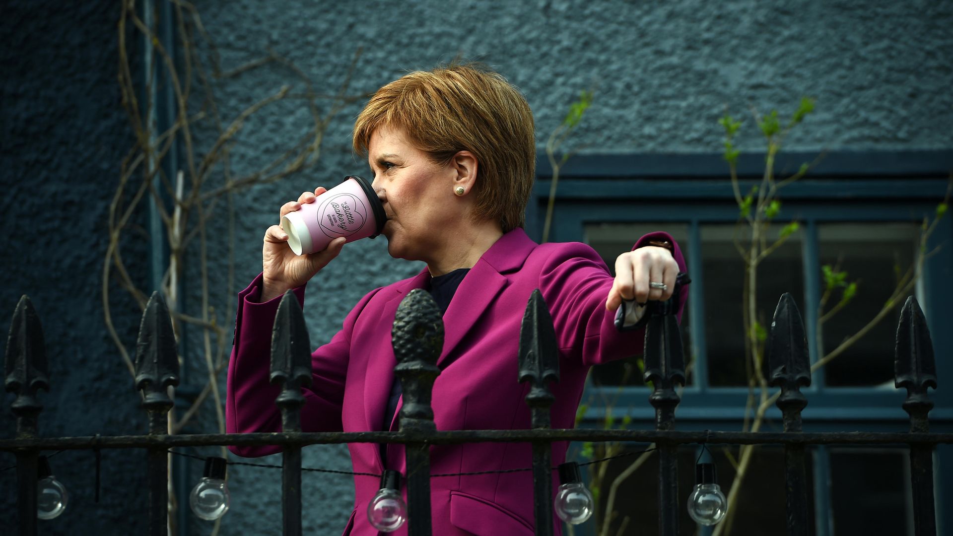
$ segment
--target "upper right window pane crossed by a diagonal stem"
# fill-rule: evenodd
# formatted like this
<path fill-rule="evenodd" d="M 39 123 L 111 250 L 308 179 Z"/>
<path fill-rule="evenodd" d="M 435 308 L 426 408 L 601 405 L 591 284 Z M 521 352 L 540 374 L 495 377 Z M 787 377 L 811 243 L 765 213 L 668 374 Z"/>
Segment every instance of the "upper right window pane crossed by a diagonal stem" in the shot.
<path fill-rule="evenodd" d="M 857 282 L 857 294 L 839 312 L 821 323 L 821 352 L 835 350 L 860 331 L 881 310 L 897 287 L 898 278 L 913 263 L 917 227 L 909 223 L 837 223 L 819 226 L 821 265 L 840 267 L 847 281 Z M 821 276 L 821 292 L 824 290 Z M 823 311 L 841 301 L 838 287 Z M 828 385 L 887 384 L 893 389 L 894 344 L 903 296 L 891 313 L 825 366 Z M 823 319 L 823 317 L 821 317 Z"/>

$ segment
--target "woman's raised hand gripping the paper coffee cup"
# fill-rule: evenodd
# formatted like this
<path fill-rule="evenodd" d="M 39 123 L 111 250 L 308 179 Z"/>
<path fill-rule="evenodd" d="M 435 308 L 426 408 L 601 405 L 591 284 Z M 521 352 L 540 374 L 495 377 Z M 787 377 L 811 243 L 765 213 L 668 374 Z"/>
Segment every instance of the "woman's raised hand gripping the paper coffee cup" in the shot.
<path fill-rule="evenodd" d="M 314 199 L 324 194 L 325 188 L 318 187 L 314 192 L 305 192 L 297 201 L 282 205 L 278 221 L 286 214 L 301 208 L 303 203 L 314 203 Z M 272 225 L 265 231 L 265 243 L 261 248 L 261 268 L 263 287 L 261 301 L 281 296 L 286 291 L 299 287 L 314 278 L 314 274 L 327 266 L 337 254 L 346 239 L 337 237 L 323 251 L 310 255 L 294 255 L 288 246 L 288 235 L 280 225 Z"/>

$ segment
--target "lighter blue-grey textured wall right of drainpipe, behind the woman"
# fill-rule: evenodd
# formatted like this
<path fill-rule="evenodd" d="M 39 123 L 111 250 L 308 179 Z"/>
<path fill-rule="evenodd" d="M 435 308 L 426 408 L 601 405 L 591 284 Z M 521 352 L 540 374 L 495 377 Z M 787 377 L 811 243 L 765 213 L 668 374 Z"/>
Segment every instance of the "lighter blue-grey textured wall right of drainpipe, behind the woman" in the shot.
<path fill-rule="evenodd" d="M 637 2 L 239 0 L 206 5 L 223 66 L 274 49 L 332 92 L 355 49 L 363 48 L 350 93 L 370 93 L 406 70 L 429 69 L 460 53 L 506 75 L 537 120 L 537 147 L 578 92 L 595 89 L 574 145 L 593 153 L 716 153 L 725 106 L 747 119 L 750 106 L 791 113 L 801 95 L 817 112 L 788 147 L 817 150 L 953 147 L 953 7 L 949 2 Z M 224 104 L 236 113 L 274 93 L 288 76 L 269 71 L 233 82 Z M 352 155 L 355 104 L 330 125 L 320 163 L 305 174 L 243 196 L 236 252 L 239 279 L 259 271 L 260 237 L 278 207 L 304 190 L 366 173 Z M 274 154 L 307 125 L 305 113 L 268 113 L 247 125 L 233 150 L 249 161 Z M 741 143 L 759 148 L 747 131 Z M 308 290 L 314 343 L 328 340 L 349 307 L 377 285 L 418 265 L 387 257 L 384 240 L 348 244 Z M 321 307 L 309 300 L 324 297 Z M 305 464 L 347 468 L 342 448 L 311 447 Z M 277 533 L 276 482 L 268 493 L 239 489 L 264 469 L 233 469 L 234 509 L 224 526 Z M 305 526 L 333 533 L 353 491 L 346 477 L 305 477 Z M 271 500 L 267 499 L 271 497 Z"/>

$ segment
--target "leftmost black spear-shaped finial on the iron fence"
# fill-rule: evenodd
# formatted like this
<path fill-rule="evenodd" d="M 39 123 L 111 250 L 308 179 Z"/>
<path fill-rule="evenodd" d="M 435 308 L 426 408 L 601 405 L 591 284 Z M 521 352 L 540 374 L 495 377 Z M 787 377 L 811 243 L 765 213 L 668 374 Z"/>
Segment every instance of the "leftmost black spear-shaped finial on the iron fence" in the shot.
<path fill-rule="evenodd" d="M 17 416 L 17 433 L 33 435 L 36 433 L 36 415 L 43 410 L 36 394 L 40 389 L 49 391 L 50 381 L 43 326 L 27 295 L 20 298 L 13 311 L 4 372 L 7 391 L 16 394 L 10 409 Z"/>

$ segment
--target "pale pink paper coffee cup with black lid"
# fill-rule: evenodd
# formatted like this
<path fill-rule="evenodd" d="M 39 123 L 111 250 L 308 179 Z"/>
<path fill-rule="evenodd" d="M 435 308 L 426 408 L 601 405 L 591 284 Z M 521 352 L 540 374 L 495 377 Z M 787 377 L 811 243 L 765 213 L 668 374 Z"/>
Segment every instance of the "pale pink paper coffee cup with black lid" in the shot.
<path fill-rule="evenodd" d="M 294 255 L 308 255 L 328 247 L 336 237 L 348 242 L 376 237 L 387 216 L 371 183 L 357 175 L 317 196 L 312 203 L 281 218 L 281 229 L 288 235 Z"/>

